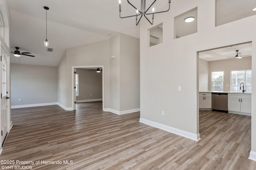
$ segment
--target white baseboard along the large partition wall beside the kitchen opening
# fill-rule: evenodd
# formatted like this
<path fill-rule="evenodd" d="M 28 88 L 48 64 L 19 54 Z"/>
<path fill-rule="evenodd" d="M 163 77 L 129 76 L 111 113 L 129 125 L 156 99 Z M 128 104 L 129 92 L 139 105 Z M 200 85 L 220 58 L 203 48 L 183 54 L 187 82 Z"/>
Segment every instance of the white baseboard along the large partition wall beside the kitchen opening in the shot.
<path fill-rule="evenodd" d="M 186 137 L 188 139 L 192 139 L 194 141 L 199 141 L 200 140 L 200 134 L 199 133 L 198 134 L 190 133 L 190 132 L 187 132 L 187 131 L 183 131 L 183 130 L 180 130 L 180 129 L 177 129 L 177 128 L 174 128 L 174 127 L 170 127 L 170 126 L 167 126 L 167 125 L 164 125 L 164 124 L 161 124 L 161 123 L 157 123 L 157 122 L 154 122 L 154 121 L 150 121 L 150 120 L 147 120 L 147 119 L 143 119 L 143 118 L 140 118 L 140 122 L 144 123 L 146 125 L 156 127 L 158 129 L 162 129 L 164 131 L 168 131 L 170 133 L 174 133 L 176 135 Z"/>

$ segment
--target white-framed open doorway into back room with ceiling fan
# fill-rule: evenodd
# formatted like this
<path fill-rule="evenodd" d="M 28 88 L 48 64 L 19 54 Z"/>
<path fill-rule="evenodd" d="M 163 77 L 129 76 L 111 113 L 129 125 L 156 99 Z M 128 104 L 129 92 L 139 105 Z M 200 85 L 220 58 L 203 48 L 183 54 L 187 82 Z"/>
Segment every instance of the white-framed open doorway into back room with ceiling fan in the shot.
<path fill-rule="evenodd" d="M 104 111 L 104 66 L 72 66 L 72 109 L 77 103 L 101 100 Z"/>

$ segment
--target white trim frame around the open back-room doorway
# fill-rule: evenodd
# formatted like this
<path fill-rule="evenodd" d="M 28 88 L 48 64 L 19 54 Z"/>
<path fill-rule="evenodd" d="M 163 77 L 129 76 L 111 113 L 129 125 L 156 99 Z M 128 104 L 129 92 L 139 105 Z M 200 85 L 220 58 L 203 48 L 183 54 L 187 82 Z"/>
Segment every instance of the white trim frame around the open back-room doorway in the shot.
<path fill-rule="evenodd" d="M 76 109 L 76 106 L 75 106 L 76 94 L 74 92 L 74 86 L 75 86 L 74 72 L 75 72 L 76 68 L 91 69 L 91 68 L 95 68 L 95 67 L 102 68 L 102 111 L 104 111 L 104 66 L 102 66 L 102 65 L 101 66 L 72 66 L 72 110 Z"/>

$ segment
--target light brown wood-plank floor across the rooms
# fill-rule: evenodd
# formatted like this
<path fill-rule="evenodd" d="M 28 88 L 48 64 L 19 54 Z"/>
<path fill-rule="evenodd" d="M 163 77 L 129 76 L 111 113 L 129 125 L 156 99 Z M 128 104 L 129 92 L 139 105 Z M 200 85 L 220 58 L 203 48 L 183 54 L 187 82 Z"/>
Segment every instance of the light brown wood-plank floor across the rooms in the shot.
<path fill-rule="evenodd" d="M 101 110 L 101 102 L 77 104 L 76 111 L 59 106 L 12 109 L 13 127 L 0 160 L 39 160 L 33 170 L 256 169 L 248 159 L 249 116 L 200 111 L 201 140 L 196 142 L 139 123 L 139 112 Z M 62 164 L 41 162 L 58 160 Z"/>

